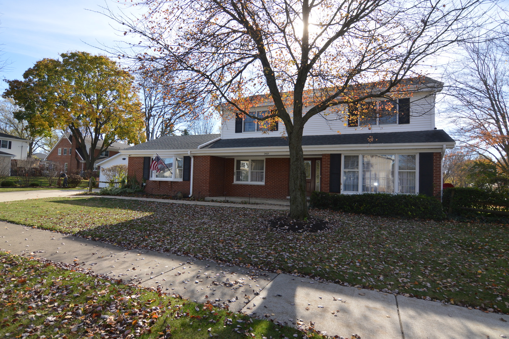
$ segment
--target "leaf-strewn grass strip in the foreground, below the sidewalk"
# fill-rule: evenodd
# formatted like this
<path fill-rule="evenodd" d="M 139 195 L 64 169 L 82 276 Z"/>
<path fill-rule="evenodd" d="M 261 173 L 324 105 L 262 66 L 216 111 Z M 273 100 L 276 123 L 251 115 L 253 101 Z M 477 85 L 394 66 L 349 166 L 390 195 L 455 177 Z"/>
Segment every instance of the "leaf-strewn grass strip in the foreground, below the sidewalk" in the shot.
<path fill-rule="evenodd" d="M 84 271 L 0 252 L 0 337 L 240 339 L 252 333 L 249 337 L 262 339 L 304 335 L 211 304 L 76 270 Z"/>

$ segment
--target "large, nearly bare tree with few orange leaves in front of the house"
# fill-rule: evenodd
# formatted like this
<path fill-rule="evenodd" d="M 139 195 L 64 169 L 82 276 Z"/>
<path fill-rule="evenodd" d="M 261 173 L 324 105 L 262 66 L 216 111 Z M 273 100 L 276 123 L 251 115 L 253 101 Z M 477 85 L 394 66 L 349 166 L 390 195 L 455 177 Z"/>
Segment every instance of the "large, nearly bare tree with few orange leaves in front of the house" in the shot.
<path fill-rule="evenodd" d="M 308 216 L 305 123 L 371 98 L 420 87 L 430 56 L 478 38 L 489 0 L 138 0 L 142 18 L 115 16 L 140 37 L 135 58 L 175 72 L 208 107 L 282 121 L 290 150 L 290 217 Z M 483 19 L 483 20 L 481 20 Z M 476 35 L 476 36 L 474 36 Z M 121 55 L 127 55 L 122 53 Z M 412 83 L 405 82 L 409 75 Z M 416 77 L 417 76 L 417 77 Z M 367 85 L 366 85 L 367 84 Z M 193 101 L 182 96 L 182 106 Z M 250 109 L 272 102 L 266 116 Z"/>

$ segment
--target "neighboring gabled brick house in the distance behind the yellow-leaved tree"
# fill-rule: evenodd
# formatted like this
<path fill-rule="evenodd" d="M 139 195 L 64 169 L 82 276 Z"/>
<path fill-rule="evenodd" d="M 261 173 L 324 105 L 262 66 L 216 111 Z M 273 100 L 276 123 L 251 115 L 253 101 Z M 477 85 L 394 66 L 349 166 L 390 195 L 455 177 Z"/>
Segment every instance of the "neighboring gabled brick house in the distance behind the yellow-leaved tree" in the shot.
<path fill-rule="evenodd" d="M 85 138 L 85 143 L 88 148 L 88 152 L 90 154 L 91 151 L 91 138 Z M 102 145 L 102 140 L 97 142 L 98 148 Z M 114 142 L 112 143 L 108 149 L 101 154 L 95 164 L 100 163 L 101 161 L 112 157 L 115 154 L 118 154 L 121 150 L 130 147 L 128 144 Z M 95 155 L 99 154 L 99 149 L 95 150 Z M 80 174 L 82 171 L 86 170 L 85 161 L 83 160 L 83 152 L 81 148 L 77 145 L 75 138 L 72 137 L 71 134 L 65 133 L 60 137 L 59 141 L 51 148 L 49 153 L 44 158 L 44 161 L 51 161 L 53 163 L 60 164 L 67 173 L 77 173 Z M 97 169 L 97 168 L 94 168 Z"/>

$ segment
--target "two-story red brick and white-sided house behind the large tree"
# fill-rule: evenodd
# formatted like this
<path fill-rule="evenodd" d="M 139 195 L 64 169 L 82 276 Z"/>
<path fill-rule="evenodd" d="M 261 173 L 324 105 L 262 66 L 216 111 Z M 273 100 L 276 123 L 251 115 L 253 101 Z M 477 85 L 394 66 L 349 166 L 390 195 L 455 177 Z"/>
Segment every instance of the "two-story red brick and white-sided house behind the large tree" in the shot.
<path fill-rule="evenodd" d="M 430 86 L 415 88 L 390 105 L 373 101 L 389 109 L 377 109 L 369 122 L 339 114 L 328 121 L 320 115 L 310 118 L 302 138 L 307 194 L 440 197 L 443 155 L 455 142 L 435 127 L 435 94 L 441 83 L 426 81 Z M 264 102 L 252 111 L 263 114 L 270 107 L 271 102 Z M 221 134 L 162 137 L 124 149 L 129 175 L 145 181 L 149 193 L 287 198 L 290 159 L 284 126 L 264 133 L 253 119 L 224 112 L 221 124 Z M 162 162 L 151 168 L 156 154 Z"/>

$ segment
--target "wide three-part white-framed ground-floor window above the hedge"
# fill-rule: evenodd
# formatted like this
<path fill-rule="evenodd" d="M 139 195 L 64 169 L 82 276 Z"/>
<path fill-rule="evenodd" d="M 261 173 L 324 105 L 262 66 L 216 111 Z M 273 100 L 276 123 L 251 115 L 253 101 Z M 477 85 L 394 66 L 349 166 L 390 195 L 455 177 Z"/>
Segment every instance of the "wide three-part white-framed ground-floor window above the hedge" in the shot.
<path fill-rule="evenodd" d="M 407 193 L 417 188 L 418 154 L 345 154 L 344 193 Z"/>

